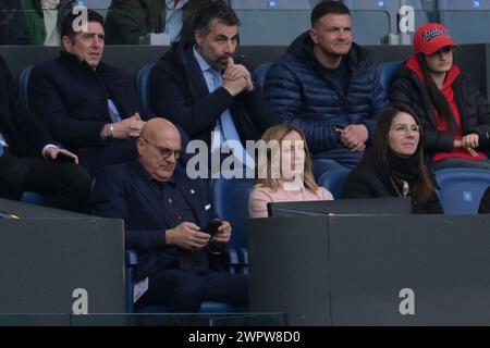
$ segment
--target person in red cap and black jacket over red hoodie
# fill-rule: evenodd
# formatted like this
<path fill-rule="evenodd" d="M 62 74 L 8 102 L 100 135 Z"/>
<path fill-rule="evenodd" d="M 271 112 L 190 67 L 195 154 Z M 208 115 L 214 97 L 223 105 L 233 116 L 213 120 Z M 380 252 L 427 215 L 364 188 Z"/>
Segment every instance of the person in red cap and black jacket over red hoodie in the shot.
<path fill-rule="evenodd" d="M 420 26 L 414 35 L 415 52 L 396 72 L 389 99 L 415 110 L 426 134 L 426 158 L 434 170 L 490 170 L 490 108 L 454 64 L 455 47 L 444 25 Z"/>

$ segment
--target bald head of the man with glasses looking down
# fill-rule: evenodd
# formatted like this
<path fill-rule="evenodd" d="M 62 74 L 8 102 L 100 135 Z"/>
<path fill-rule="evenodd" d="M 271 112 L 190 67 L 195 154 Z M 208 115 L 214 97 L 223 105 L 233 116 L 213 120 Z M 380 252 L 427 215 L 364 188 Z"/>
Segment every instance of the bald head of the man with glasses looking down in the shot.
<path fill-rule="evenodd" d="M 168 120 L 146 122 L 136 142 L 139 163 L 156 181 L 169 181 L 175 171 L 181 150 L 181 134 Z"/>

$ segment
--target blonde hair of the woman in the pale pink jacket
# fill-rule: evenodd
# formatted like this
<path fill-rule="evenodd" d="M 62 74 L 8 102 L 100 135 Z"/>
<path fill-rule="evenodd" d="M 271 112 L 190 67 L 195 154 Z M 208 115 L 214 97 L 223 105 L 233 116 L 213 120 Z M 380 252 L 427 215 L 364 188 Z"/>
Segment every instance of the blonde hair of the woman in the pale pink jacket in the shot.
<path fill-rule="evenodd" d="M 299 136 L 303 139 L 304 142 L 304 149 L 305 149 L 305 164 L 304 164 L 304 172 L 303 172 L 303 183 L 305 187 L 314 192 L 317 192 L 318 185 L 315 181 L 315 176 L 311 171 L 311 158 L 309 154 L 308 145 L 306 142 L 305 134 L 302 129 L 289 125 L 289 124 L 280 124 L 273 127 L 270 127 L 267 129 L 261 140 L 266 144 L 270 144 L 272 141 L 278 141 L 279 144 L 282 142 L 284 137 L 290 134 L 291 132 L 296 132 L 299 134 Z M 272 173 L 272 150 L 267 149 L 267 159 L 266 161 L 258 159 L 258 165 L 257 165 L 257 178 L 254 182 L 254 187 L 268 187 L 271 188 L 273 191 L 278 190 L 278 188 L 281 186 L 280 178 Z"/>

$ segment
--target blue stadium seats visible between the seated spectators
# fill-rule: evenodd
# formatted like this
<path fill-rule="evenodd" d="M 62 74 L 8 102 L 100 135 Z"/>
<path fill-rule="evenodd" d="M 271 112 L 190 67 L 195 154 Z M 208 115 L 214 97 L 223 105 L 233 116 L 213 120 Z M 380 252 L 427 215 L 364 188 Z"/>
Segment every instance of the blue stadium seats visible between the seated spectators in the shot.
<path fill-rule="evenodd" d="M 390 80 L 401 62 L 388 62 L 381 64 L 378 70 L 381 84 L 388 88 Z M 257 71 L 257 79 L 264 85 L 264 80 L 271 63 L 260 65 Z M 150 107 L 149 76 L 154 64 L 144 66 L 137 76 L 137 86 L 145 107 Z M 21 95 L 27 104 L 27 85 L 32 67 L 26 67 L 21 74 Z M 320 177 L 319 184 L 329 189 L 334 198 L 342 196 L 342 188 L 347 178 L 348 171 L 330 172 Z M 448 213 L 475 213 L 485 188 L 490 185 L 490 174 L 483 170 L 444 170 L 437 173 L 441 190 L 438 192 Z M 222 219 L 233 225 L 233 236 L 230 241 L 231 272 L 247 273 L 248 253 L 246 240 L 246 221 L 248 217 L 248 196 L 252 190 L 253 179 L 224 179 L 211 181 L 211 201 L 216 212 Z M 34 192 L 26 192 L 25 198 L 33 203 L 41 203 L 42 197 Z M 456 204 L 455 202 L 460 202 Z M 137 254 L 126 252 L 126 294 L 127 310 L 133 311 L 134 268 L 138 264 Z M 143 312 L 166 312 L 164 307 L 145 308 Z M 242 309 L 233 308 L 225 303 L 205 302 L 201 313 L 236 312 Z"/>

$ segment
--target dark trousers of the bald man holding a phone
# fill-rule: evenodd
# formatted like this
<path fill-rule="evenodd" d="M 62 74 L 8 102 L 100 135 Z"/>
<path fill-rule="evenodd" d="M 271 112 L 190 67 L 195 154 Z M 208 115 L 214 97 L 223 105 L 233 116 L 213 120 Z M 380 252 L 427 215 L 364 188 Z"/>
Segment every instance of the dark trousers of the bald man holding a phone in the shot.
<path fill-rule="evenodd" d="M 248 277 L 228 272 L 166 270 L 150 275 L 135 306 L 168 306 L 172 313 L 196 313 L 204 301 L 248 304 Z"/>

